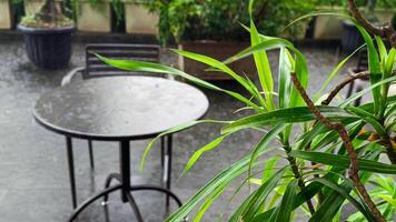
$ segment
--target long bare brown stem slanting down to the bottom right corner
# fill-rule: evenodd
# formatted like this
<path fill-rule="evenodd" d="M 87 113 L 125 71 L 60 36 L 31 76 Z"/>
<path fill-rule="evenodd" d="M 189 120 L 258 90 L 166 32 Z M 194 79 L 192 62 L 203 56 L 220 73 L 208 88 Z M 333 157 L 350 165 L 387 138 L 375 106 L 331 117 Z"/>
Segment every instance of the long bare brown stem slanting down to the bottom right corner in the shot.
<path fill-rule="evenodd" d="M 353 143 L 349 140 L 349 135 L 348 135 L 345 127 L 340 122 L 331 122 L 330 120 L 325 118 L 320 113 L 319 109 L 317 109 L 315 107 L 314 102 L 309 99 L 307 92 L 305 91 L 305 89 L 301 87 L 299 80 L 297 79 L 296 73 L 291 72 L 290 75 L 291 75 L 293 83 L 295 84 L 296 89 L 300 93 L 305 103 L 308 105 L 310 111 L 315 114 L 317 120 L 319 120 L 323 124 L 325 124 L 329 129 L 337 131 L 337 133 L 341 138 L 341 140 L 345 144 L 345 148 L 348 152 L 348 157 L 349 157 L 349 161 L 350 161 L 350 167 L 349 167 L 349 171 L 348 171 L 349 178 L 354 182 L 356 189 L 359 191 L 362 198 L 365 200 L 367 206 L 370 209 L 370 211 L 373 212 L 373 215 L 376 218 L 376 220 L 379 222 L 385 222 L 384 216 L 380 214 L 379 210 L 373 202 L 372 198 L 368 195 L 366 188 L 364 186 L 364 184 L 362 183 L 362 181 L 359 179 L 359 175 L 358 175 L 359 168 L 358 168 L 358 163 L 357 163 L 357 154 L 355 152 L 355 148 L 354 148 Z"/>

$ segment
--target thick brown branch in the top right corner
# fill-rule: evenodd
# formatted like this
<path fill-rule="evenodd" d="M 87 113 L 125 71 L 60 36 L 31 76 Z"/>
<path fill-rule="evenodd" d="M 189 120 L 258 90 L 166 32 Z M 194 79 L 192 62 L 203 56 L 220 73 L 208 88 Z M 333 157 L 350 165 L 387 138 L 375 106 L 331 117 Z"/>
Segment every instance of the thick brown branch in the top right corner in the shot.
<path fill-rule="evenodd" d="M 390 46 L 396 48 L 396 31 L 393 29 L 390 22 L 383 27 L 376 27 L 365 19 L 359 9 L 357 8 L 355 0 L 348 0 L 348 10 L 350 14 L 372 34 L 389 40 Z"/>

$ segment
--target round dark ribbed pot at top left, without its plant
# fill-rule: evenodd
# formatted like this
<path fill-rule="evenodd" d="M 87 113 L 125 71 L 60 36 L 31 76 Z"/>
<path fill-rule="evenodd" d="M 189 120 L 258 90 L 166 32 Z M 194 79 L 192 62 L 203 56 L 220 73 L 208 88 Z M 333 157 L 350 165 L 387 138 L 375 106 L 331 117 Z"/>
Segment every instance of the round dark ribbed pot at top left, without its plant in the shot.
<path fill-rule="evenodd" d="M 68 65 L 73 26 L 37 29 L 18 24 L 18 30 L 23 33 L 28 57 L 37 67 L 61 69 Z"/>

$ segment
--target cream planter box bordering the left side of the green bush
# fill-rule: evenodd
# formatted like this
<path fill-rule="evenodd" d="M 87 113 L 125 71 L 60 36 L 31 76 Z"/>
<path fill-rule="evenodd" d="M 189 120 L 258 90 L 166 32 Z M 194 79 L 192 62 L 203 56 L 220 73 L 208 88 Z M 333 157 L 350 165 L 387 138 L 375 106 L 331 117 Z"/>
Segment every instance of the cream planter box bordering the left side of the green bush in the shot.
<path fill-rule="evenodd" d="M 143 2 L 125 1 L 126 31 L 133 34 L 158 34 L 157 13 L 145 8 Z"/>

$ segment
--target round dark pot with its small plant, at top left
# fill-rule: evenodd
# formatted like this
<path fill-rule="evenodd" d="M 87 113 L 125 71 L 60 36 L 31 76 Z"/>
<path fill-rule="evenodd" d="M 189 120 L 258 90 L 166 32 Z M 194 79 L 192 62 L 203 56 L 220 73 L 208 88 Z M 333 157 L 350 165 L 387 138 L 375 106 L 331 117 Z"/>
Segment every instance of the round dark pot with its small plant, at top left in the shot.
<path fill-rule="evenodd" d="M 75 24 L 55 0 L 46 0 L 38 12 L 22 18 L 18 30 L 23 33 L 28 57 L 36 65 L 44 69 L 68 65 Z"/>

